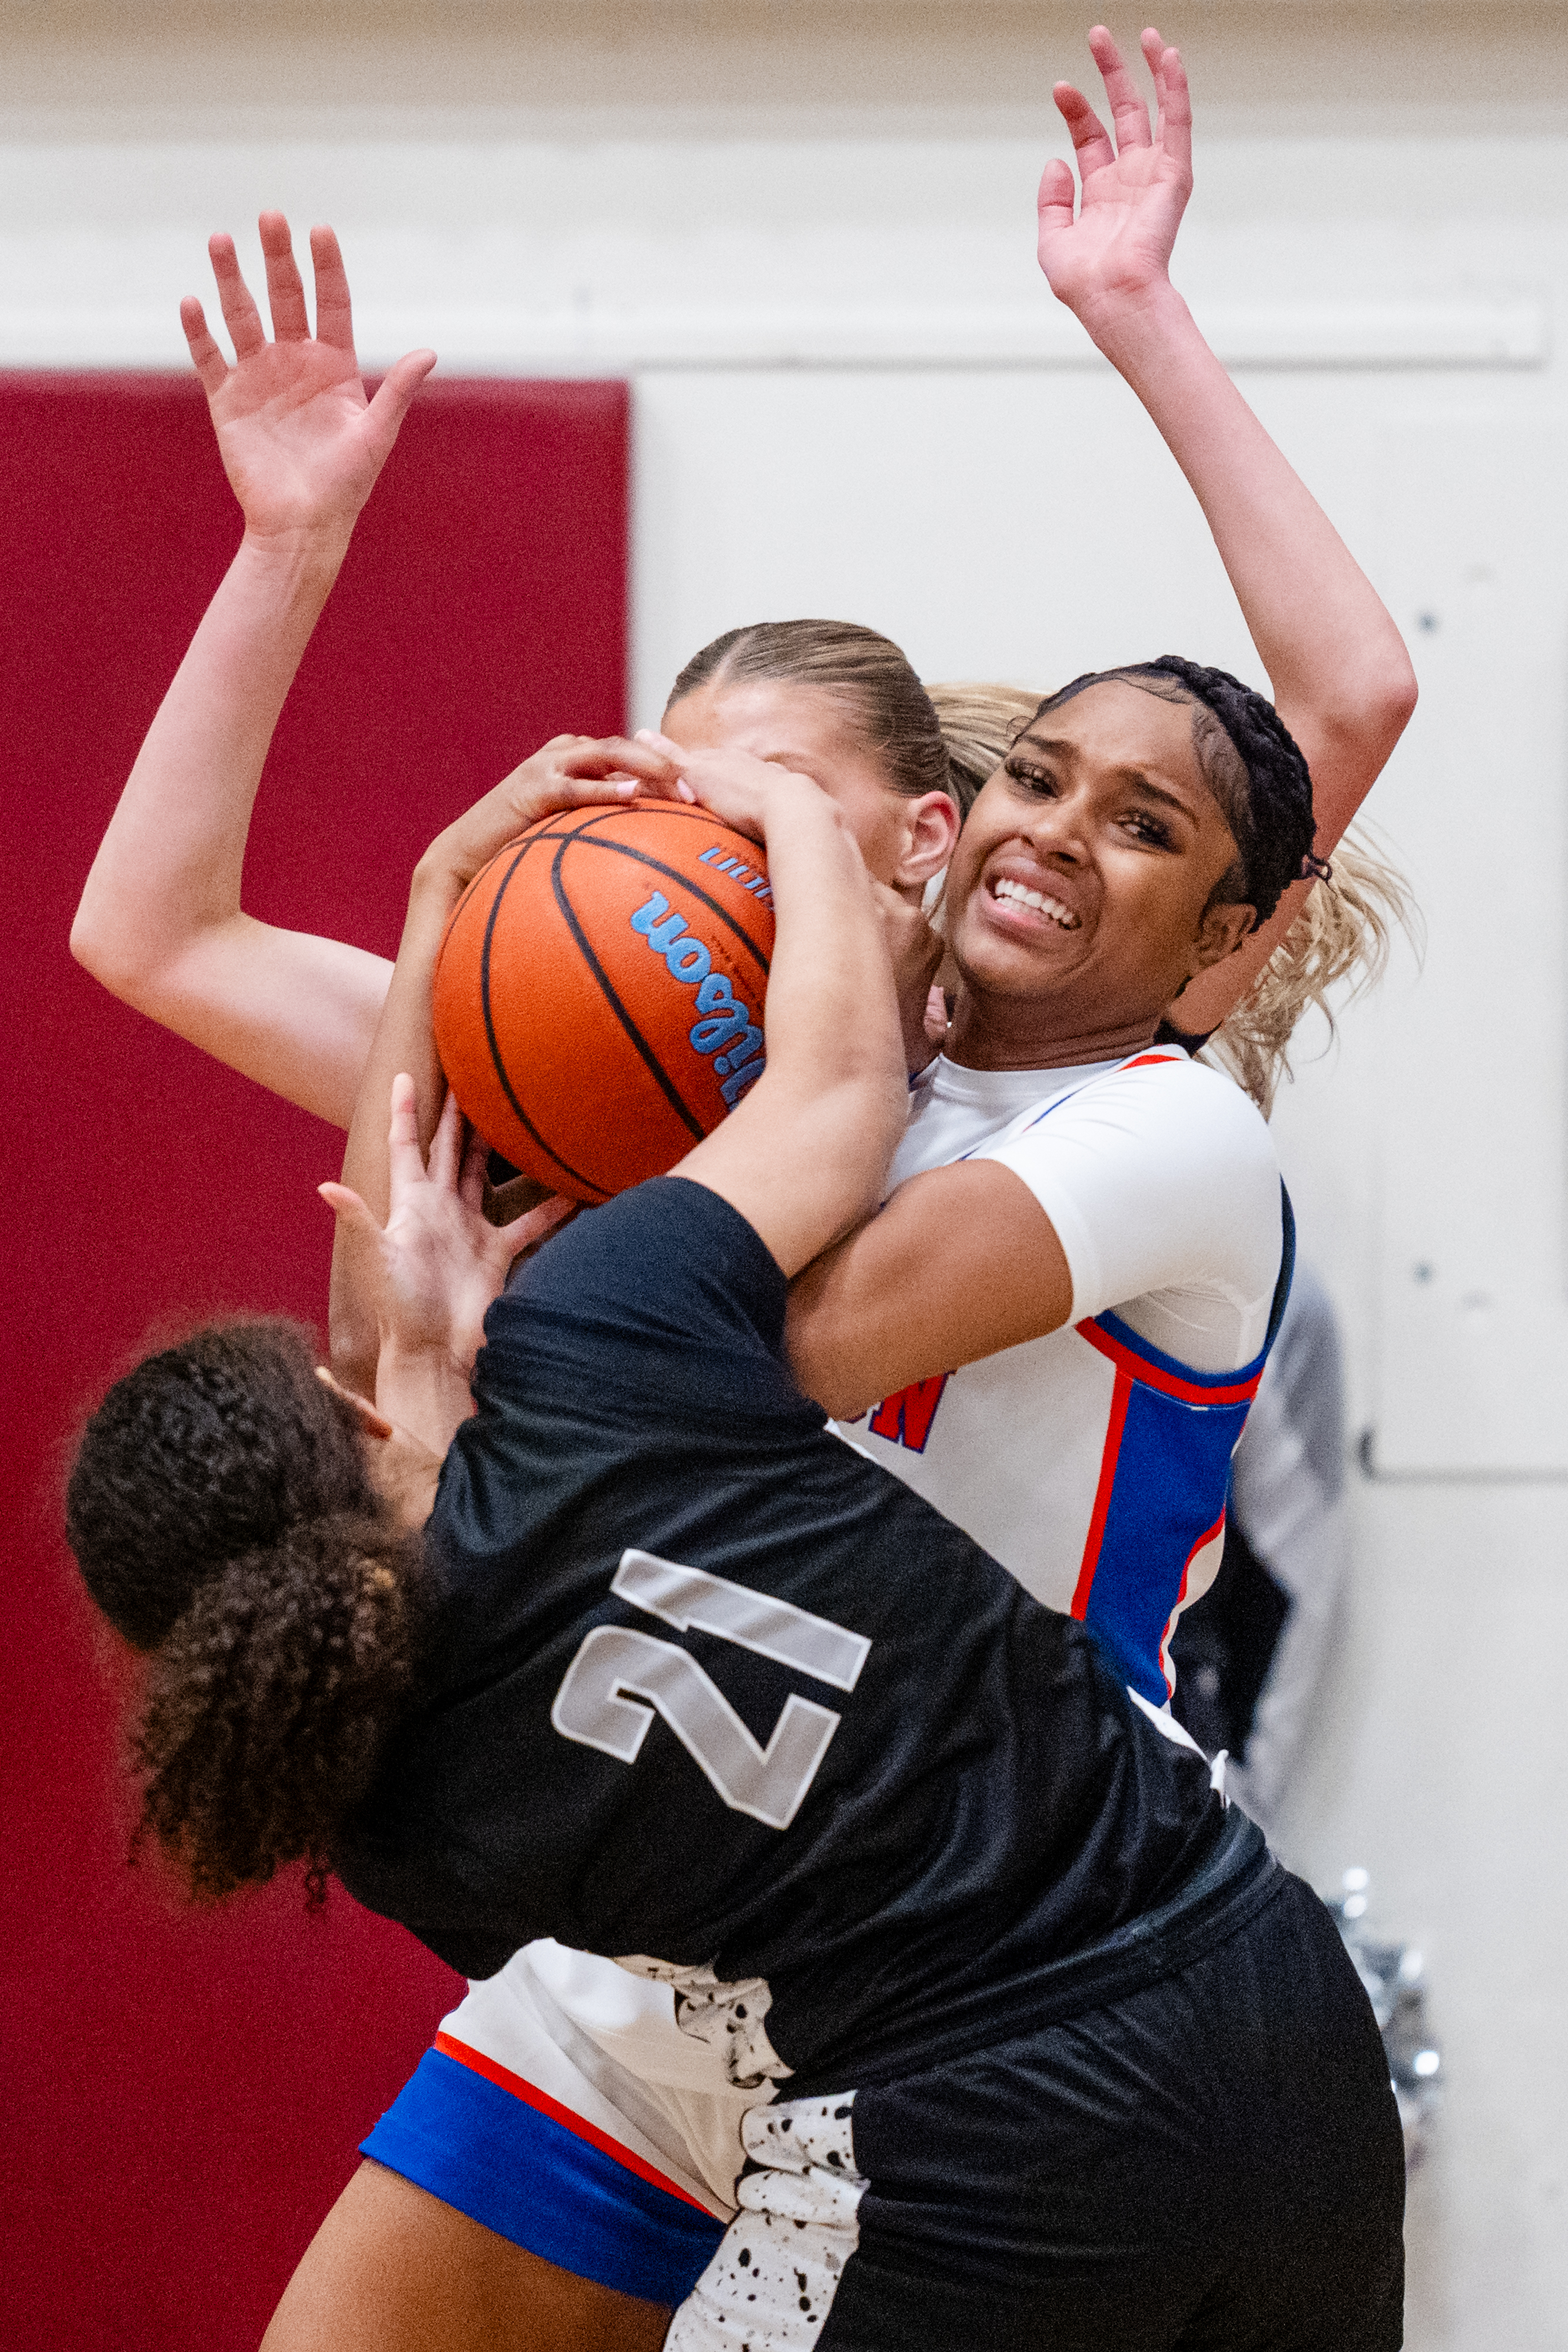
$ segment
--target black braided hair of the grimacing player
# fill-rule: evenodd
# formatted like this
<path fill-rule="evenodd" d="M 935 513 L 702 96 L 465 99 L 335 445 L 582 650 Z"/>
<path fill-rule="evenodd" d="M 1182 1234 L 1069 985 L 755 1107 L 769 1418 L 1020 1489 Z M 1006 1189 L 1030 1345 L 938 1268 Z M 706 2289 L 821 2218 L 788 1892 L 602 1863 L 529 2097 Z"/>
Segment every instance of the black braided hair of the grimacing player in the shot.
<path fill-rule="evenodd" d="M 1309 875 L 1328 880 L 1328 866 L 1312 856 L 1312 774 L 1274 703 L 1229 670 L 1161 654 L 1121 670 L 1084 670 L 1048 694 L 1039 710 L 1060 710 L 1086 687 L 1117 680 L 1159 694 L 1161 701 L 1194 703 L 1192 743 L 1199 769 L 1239 851 L 1215 891 L 1220 903 L 1253 906 L 1258 924 L 1265 924 L 1291 882 Z"/>

